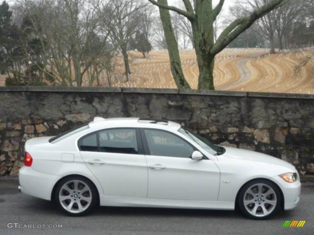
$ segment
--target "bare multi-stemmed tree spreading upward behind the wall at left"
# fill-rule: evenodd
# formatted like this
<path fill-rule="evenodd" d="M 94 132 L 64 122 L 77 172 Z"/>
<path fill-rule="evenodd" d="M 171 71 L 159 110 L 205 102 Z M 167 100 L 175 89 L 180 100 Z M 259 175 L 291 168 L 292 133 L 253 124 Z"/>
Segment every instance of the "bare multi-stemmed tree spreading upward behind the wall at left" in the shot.
<path fill-rule="evenodd" d="M 100 18 L 96 9 L 101 2 L 25 0 L 24 9 L 33 16 L 30 18 L 32 30 L 41 41 L 45 59 L 58 84 L 81 86 L 84 74 L 103 51 L 108 34 L 99 37 Z M 99 43 L 94 45 L 93 53 L 89 53 L 96 39 Z"/>

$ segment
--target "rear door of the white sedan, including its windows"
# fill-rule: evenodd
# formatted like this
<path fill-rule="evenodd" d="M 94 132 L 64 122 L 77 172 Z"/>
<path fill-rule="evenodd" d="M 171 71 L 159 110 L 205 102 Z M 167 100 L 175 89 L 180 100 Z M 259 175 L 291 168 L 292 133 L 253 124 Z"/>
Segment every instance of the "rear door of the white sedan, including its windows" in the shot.
<path fill-rule="evenodd" d="M 136 128 L 106 129 L 78 141 L 80 154 L 105 195 L 147 196 L 147 164 Z"/>

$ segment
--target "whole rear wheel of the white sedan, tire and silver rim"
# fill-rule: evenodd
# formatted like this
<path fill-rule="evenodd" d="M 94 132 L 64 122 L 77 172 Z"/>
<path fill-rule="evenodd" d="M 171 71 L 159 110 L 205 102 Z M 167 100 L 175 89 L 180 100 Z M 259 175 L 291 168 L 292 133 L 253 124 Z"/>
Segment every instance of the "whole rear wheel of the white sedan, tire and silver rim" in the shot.
<path fill-rule="evenodd" d="M 95 185 L 82 176 L 69 176 L 56 186 L 54 200 L 60 210 L 71 216 L 82 216 L 91 212 L 98 202 Z"/>

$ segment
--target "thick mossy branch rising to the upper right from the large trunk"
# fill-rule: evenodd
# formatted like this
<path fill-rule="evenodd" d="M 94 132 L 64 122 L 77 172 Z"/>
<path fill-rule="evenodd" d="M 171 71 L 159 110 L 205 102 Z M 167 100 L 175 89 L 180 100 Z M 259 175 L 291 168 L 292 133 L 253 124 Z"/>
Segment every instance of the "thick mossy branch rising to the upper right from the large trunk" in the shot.
<path fill-rule="evenodd" d="M 257 19 L 262 18 L 270 11 L 283 6 L 290 0 L 272 0 L 271 2 L 257 8 L 250 16 L 245 16 L 234 20 L 219 36 L 217 42 L 211 48 L 212 55 L 218 54 L 227 45 L 229 45 L 236 37 L 248 29 Z"/>

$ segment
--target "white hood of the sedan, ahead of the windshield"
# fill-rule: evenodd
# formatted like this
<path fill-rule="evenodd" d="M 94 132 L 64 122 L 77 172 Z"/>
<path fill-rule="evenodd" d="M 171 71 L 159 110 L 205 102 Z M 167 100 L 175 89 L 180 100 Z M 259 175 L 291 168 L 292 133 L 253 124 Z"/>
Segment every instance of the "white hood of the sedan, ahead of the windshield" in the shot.
<path fill-rule="evenodd" d="M 263 163 L 269 163 L 274 165 L 283 166 L 286 168 L 289 168 L 295 172 L 294 165 L 281 160 L 279 158 L 275 158 L 272 156 L 269 156 L 267 154 L 262 154 L 250 150 L 245 149 L 236 149 L 231 147 L 224 147 L 226 149 L 225 154 L 223 156 L 225 159 L 241 159 L 241 160 L 248 160 L 248 161 L 255 161 L 255 162 L 263 162 Z"/>

